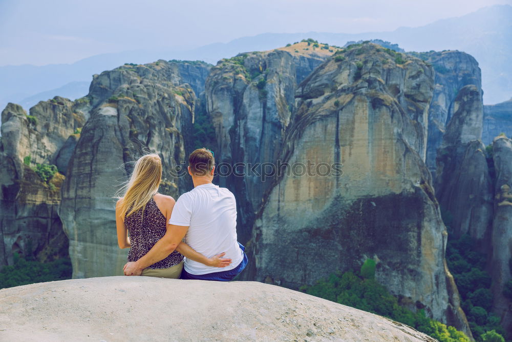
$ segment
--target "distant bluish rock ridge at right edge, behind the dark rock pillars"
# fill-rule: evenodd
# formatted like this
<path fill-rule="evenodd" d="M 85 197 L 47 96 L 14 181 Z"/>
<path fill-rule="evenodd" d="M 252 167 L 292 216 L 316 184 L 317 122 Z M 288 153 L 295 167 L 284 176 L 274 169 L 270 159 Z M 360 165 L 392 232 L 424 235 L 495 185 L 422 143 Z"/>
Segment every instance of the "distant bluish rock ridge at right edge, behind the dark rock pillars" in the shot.
<path fill-rule="evenodd" d="M 483 106 L 482 142 L 492 144 L 493 139 L 501 133 L 512 136 L 512 98 L 496 105 Z"/>

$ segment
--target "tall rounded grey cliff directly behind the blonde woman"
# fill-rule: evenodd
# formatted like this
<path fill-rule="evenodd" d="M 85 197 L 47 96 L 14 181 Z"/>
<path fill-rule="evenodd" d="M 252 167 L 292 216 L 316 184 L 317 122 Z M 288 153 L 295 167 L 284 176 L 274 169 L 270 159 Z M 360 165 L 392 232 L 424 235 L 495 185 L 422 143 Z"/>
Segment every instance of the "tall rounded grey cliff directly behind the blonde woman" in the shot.
<path fill-rule="evenodd" d="M 172 172 L 190 144 L 196 95 L 186 81 L 176 63 L 165 61 L 94 76 L 87 97 L 91 117 L 75 147 L 59 208 L 74 278 L 122 274 L 126 251 L 117 247 L 113 196 L 133 160 L 147 151 L 160 155 L 161 193 L 177 198 L 191 187 L 188 177 Z"/>

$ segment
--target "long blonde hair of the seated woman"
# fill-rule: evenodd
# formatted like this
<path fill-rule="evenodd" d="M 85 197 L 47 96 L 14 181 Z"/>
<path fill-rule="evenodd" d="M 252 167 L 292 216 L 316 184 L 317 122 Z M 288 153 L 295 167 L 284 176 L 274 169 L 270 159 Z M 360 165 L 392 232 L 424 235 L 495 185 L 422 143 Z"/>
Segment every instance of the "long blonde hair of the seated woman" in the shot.
<path fill-rule="evenodd" d="M 124 193 L 119 205 L 121 217 L 143 208 L 157 193 L 162 179 L 162 160 L 158 154 L 146 154 L 135 163 L 130 180 L 119 190 Z"/>

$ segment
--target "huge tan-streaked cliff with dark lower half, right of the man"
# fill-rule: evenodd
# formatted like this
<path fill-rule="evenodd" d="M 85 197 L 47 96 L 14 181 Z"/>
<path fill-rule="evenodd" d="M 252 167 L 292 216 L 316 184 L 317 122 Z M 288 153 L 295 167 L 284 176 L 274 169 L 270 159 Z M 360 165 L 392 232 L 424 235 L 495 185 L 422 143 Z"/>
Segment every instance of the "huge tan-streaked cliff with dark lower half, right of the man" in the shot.
<path fill-rule="evenodd" d="M 343 174 L 312 167 L 275 179 L 255 220 L 246 276 L 296 288 L 374 258 L 392 292 L 468 331 L 423 162 L 433 70 L 406 55 L 396 64 L 373 44 L 342 55 L 300 85 L 280 157 L 291 166 L 341 163 Z"/>

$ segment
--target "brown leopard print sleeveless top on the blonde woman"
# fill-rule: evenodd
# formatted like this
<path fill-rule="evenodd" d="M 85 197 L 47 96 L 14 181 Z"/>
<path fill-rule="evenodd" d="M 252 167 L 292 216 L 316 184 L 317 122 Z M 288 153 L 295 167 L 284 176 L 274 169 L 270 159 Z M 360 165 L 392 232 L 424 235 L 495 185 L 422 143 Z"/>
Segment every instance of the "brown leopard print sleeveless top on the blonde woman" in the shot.
<path fill-rule="evenodd" d="M 142 214 L 144 210 L 144 214 Z M 124 225 L 130 233 L 132 247 L 128 252 L 128 261 L 137 261 L 144 256 L 161 239 L 165 232 L 166 218 L 158 209 L 153 198 L 144 208 L 139 209 L 128 217 L 124 217 Z M 160 269 L 178 265 L 183 261 L 183 255 L 174 251 L 165 259 L 158 261 L 148 268 Z"/>

